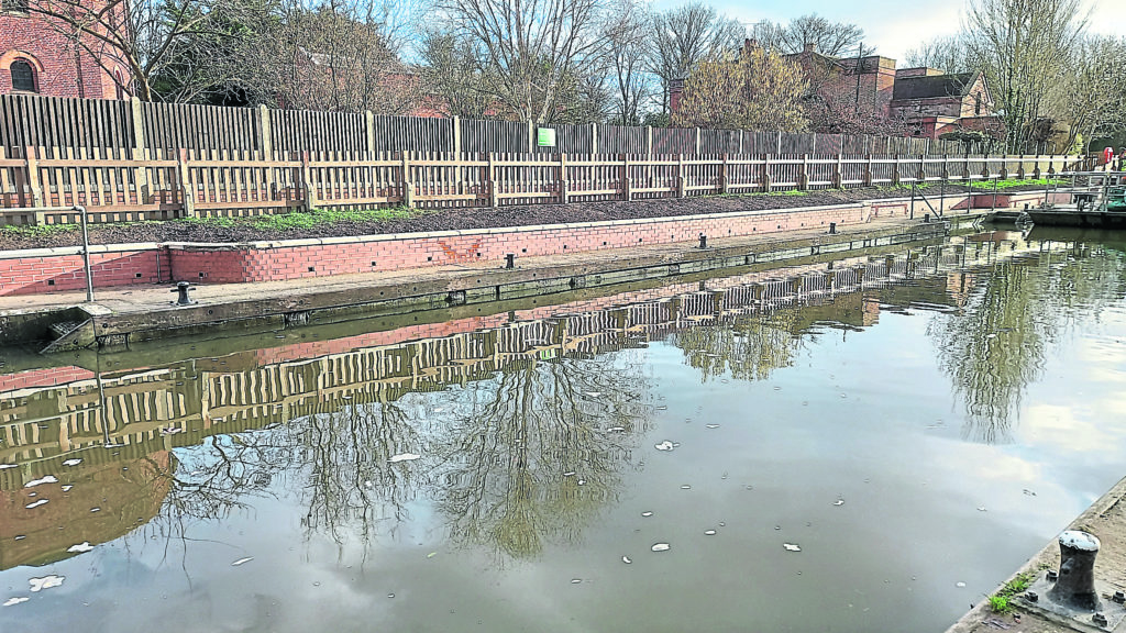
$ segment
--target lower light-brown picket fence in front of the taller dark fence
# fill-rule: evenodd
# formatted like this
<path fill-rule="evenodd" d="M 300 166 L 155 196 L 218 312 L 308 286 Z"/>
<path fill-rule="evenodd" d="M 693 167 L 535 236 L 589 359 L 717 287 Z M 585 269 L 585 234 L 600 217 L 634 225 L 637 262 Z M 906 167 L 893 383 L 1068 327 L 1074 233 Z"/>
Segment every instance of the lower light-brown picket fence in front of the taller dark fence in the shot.
<path fill-rule="evenodd" d="M 170 220 L 295 208 L 495 207 L 1039 177 L 1080 157 L 535 154 L 0 149 L 0 224 Z"/>

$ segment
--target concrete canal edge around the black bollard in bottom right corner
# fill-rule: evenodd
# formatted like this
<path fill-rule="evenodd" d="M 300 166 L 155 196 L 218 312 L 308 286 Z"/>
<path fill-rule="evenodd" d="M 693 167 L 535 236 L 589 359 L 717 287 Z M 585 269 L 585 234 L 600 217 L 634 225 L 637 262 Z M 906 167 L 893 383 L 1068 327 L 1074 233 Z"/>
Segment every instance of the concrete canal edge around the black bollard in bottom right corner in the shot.
<path fill-rule="evenodd" d="M 1126 479 L 1116 483 L 1106 494 L 1097 499 L 1091 507 L 1079 515 L 1066 527 L 1069 531 L 1081 531 L 1093 534 L 1100 541 L 1100 547 L 1094 561 L 1094 583 L 1100 589 L 1100 612 L 1121 610 L 1114 599 L 1115 591 L 1126 591 Z M 1007 588 L 1028 585 L 1029 590 L 1040 589 L 1048 582 L 1049 571 L 1060 570 L 1061 549 L 1056 540 L 1052 540 L 1036 555 L 1028 560 L 1016 573 L 998 586 L 991 596 L 1006 591 Z M 1027 582 L 1026 582 L 1027 581 Z M 1083 633 L 1096 631 L 1124 631 L 1119 622 L 1110 619 L 1108 625 L 1099 625 L 1092 619 L 1091 612 L 1079 613 L 1074 617 L 1061 617 L 1036 608 L 1036 604 L 1047 603 L 1043 592 L 1037 592 L 1035 603 L 1025 598 L 1027 592 L 1016 592 L 1006 604 L 1009 610 L 998 613 L 991 601 L 983 597 L 946 633 L 984 633 L 999 630 L 1016 630 L 1021 633 L 1060 633 L 1078 631 Z M 1030 606 L 1031 605 L 1031 606 Z M 1002 610 L 1004 610 L 1002 608 Z M 1116 624 L 1119 624 L 1116 626 Z"/>

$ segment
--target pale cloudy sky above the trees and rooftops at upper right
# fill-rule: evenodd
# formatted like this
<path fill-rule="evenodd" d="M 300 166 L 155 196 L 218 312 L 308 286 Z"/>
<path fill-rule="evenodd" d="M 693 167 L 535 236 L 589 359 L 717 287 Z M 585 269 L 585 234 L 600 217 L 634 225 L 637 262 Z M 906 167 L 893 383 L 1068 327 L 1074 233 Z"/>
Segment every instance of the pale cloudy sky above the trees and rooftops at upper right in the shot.
<path fill-rule="evenodd" d="M 787 23 L 792 18 L 817 14 L 832 21 L 852 23 L 864 29 L 865 47 L 903 61 L 906 52 L 922 42 L 953 35 L 962 24 L 962 0 L 704 0 L 720 12 L 748 25 L 761 21 Z M 653 0 L 652 7 L 664 10 L 686 0 Z M 1091 30 L 1126 36 L 1126 0 L 1089 0 L 1092 7 Z"/>

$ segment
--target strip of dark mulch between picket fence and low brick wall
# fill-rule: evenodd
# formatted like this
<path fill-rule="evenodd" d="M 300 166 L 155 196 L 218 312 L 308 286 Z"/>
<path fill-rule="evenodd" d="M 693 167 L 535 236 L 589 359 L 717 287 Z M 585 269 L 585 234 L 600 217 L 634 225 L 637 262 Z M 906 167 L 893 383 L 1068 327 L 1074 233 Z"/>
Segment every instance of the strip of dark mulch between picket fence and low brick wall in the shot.
<path fill-rule="evenodd" d="M 948 185 L 946 187 L 946 194 L 948 195 L 964 193 L 965 190 L 966 188 L 962 186 Z M 937 197 L 939 195 L 938 187 L 928 187 L 926 194 L 928 197 Z M 599 202 L 572 203 L 569 205 L 506 206 L 500 208 L 448 208 L 421 213 L 406 220 L 336 222 L 318 225 L 312 229 L 286 231 L 260 229 L 251 225 L 251 222 L 236 222 L 233 226 L 218 226 L 195 222 L 109 224 L 91 226 L 90 242 L 95 244 L 132 242 L 244 242 L 256 240 L 372 235 L 379 233 L 414 233 L 794 208 L 844 204 L 865 199 L 899 198 L 910 195 L 910 189 L 904 188 L 861 188 L 808 191 L 803 196 L 708 196 L 683 199 L 634 200 L 629 203 Z M 69 247 L 80 243 L 81 234 L 77 230 L 35 235 L 0 231 L 0 250 Z"/>

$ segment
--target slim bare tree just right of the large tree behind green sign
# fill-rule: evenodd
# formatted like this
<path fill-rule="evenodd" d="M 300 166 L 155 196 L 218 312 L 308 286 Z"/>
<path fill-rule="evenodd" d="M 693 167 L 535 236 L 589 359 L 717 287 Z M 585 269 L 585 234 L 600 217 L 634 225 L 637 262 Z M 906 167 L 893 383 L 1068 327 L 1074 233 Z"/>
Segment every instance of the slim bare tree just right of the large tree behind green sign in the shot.
<path fill-rule="evenodd" d="M 641 107 L 652 91 L 645 72 L 646 37 L 653 18 L 638 0 L 617 0 L 602 25 L 614 91 L 614 121 L 638 125 Z"/>

